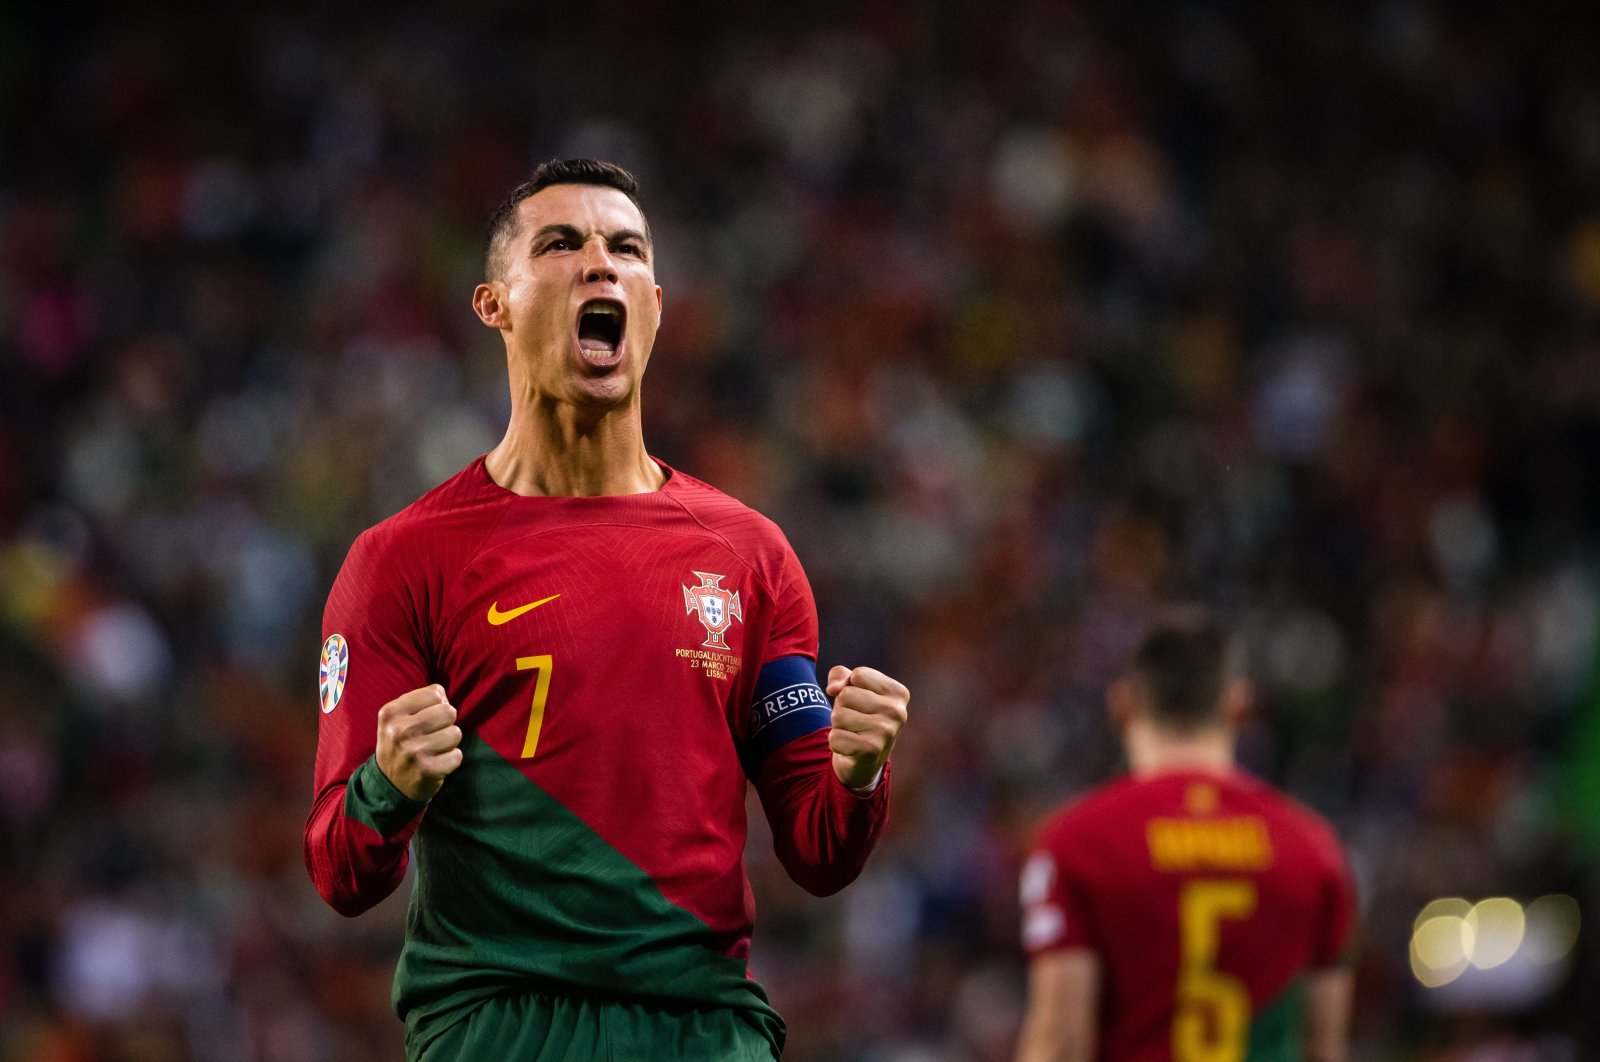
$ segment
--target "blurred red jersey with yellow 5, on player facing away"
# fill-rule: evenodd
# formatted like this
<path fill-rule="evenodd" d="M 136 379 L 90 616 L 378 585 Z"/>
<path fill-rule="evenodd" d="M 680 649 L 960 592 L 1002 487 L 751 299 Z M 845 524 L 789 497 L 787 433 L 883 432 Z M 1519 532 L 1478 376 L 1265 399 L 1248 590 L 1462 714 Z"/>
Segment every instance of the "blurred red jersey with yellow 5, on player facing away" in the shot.
<path fill-rule="evenodd" d="M 1022 868 L 1022 944 L 1101 958 L 1117 1062 L 1298 1059 L 1301 977 L 1341 960 L 1352 920 L 1333 830 L 1238 771 L 1104 785 Z"/>

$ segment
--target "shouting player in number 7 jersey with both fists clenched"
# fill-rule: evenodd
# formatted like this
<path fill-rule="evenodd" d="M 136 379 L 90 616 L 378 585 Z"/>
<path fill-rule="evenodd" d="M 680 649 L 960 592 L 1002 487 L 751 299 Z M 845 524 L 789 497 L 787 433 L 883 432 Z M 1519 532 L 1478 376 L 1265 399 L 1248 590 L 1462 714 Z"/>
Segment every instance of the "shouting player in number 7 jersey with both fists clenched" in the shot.
<path fill-rule="evenodd" d="M 787 541 L 645 449 L 653 261 L 619 166 L 512 192 L 472 294 L 506 344 L 506 437 L 365 531 L 328 597 L 306 864 L 357 915 L 414 843 L 411 1059 L 776 1057 L 746 785 L 819 896 L 888 814 L 906 688 L 819 688 Z"/>

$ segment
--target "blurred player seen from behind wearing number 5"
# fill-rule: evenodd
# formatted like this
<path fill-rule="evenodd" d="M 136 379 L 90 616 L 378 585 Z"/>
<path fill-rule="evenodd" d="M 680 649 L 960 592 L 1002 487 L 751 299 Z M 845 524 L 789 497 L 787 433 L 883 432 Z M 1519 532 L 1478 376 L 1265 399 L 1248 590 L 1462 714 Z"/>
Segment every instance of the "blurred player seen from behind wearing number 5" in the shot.
<path fill-rule="evenodd" d="M 1197 608 L 1110 686 L 1131 777 L 1050 817 L 1022 868 L 1019 1062 L 1344 1057 L 1350 880 L 1317 814 L 1235 769 L 1250 699 Z"/>

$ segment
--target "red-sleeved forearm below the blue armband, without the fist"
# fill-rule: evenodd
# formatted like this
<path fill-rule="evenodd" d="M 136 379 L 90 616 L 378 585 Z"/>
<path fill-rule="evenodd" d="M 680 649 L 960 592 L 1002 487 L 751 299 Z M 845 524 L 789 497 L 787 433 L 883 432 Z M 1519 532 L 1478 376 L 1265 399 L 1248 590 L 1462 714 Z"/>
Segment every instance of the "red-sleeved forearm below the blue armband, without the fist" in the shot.
<path fill-rule="evenodd" d="M 784 870 L 805 891 L 830 896 L 861 873 L 888 820 L 890 771 L 858 795 L 834 774 L 827 731 L 774 750 L 755 782 Z"/>

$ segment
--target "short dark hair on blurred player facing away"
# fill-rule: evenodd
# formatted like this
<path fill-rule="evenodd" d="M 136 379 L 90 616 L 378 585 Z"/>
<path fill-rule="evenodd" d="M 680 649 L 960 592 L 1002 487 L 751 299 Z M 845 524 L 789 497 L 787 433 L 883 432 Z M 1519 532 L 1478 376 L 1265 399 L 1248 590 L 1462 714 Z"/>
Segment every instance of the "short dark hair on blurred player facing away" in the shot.
<path fill-rule="evenodd" d="M 1200 605 L 1174 605 L 1150 622 L 1130 677 L 1150 720 L 1182 733 L 1222 718 L 1234 670 L 1234 640 L 1222 621 Z"/>

